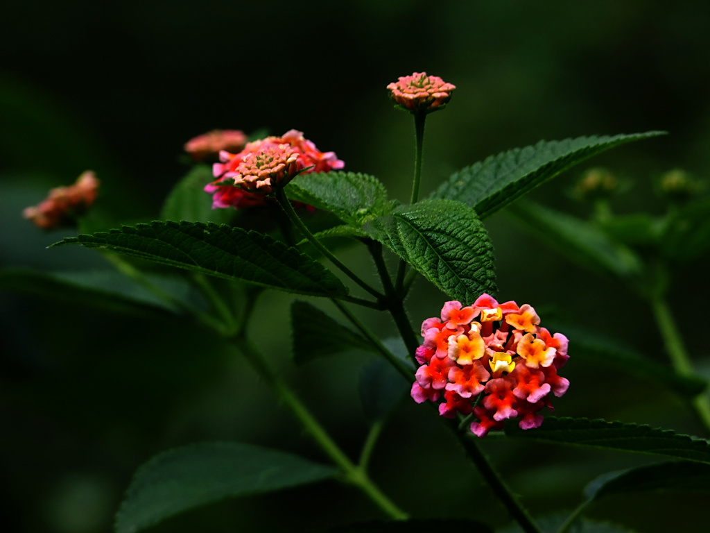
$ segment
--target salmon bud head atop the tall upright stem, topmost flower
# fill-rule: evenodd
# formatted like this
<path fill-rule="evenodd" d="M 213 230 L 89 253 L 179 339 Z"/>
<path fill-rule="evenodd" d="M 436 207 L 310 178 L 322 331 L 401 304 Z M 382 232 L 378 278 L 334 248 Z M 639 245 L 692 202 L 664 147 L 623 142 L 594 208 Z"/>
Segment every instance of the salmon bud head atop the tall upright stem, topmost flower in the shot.
<path fill-rule="evenodd" d="M 440 77 L 427 76 L 426 72 L 414 72 L 402 76 L 387 86 L 391 98 L 410 112 L 432 112 L 442 108 L 451 99 L 451 83 Z"/>

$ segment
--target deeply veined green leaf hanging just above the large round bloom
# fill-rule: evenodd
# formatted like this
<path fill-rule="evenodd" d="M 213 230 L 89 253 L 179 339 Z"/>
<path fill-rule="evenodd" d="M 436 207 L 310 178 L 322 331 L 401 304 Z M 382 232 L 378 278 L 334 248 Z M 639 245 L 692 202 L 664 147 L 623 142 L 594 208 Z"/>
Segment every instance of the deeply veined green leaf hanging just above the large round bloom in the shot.
<path fill-rule="evenodd" d="M 471 303 L 496 291 L 491 240 L 466 205 L 422 200 L 369 220 L 363 230 L 454 300 Z"/>

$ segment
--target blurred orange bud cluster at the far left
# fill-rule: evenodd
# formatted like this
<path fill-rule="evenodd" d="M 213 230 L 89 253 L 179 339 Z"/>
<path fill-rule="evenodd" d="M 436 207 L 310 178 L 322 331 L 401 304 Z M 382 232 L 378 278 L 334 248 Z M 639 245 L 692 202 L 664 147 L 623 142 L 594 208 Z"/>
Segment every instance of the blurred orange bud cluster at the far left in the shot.
<path fill-rule="evenodd" d="M 57 187 L 39 205 L 25 208 L 23 217 L 43 230 L 75 225 L 76 217 L 82 215 L 97 197 L 99 180 L 93 171 L 82 173 L 74 185 Z"/>

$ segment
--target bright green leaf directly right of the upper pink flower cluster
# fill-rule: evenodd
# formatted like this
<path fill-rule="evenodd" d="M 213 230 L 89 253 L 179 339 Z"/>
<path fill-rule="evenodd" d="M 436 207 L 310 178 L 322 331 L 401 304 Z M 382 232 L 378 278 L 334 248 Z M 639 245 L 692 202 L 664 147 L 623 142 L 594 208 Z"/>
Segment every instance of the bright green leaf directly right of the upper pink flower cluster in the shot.
<path fill-rule="evenodd" d="M 288 184 L 285 193 L 291 200 L 332 212 L 354 227 L 361 227 L 367 220 L 386 215 L 393 209 L 385 186 L 368 174 L 301 174 Z"/>

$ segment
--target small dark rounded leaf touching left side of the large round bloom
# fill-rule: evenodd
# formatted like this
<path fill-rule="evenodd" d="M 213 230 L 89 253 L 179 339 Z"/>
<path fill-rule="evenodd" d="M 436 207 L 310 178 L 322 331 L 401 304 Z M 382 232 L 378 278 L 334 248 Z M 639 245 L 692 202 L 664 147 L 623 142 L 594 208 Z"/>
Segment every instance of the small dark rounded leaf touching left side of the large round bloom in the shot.
<path fill-rule="evenodd" d="M 369 361 L 360 372 L 358 391 L 365 416 L 371 421 L 383 420 L 405 397 L 412 384 L 386 360 Z"/>

